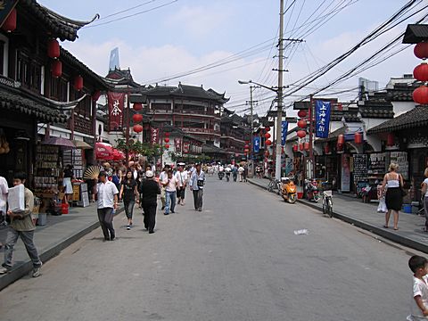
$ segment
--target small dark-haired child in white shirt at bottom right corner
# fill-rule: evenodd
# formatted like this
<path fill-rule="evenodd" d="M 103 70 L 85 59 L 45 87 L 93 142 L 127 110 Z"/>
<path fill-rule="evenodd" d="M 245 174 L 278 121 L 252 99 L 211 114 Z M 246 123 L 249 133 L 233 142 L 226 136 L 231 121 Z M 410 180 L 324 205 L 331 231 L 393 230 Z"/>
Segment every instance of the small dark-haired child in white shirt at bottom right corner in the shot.
<path fill-rule="evenodd" d="M 408 260 L 408 268 L 414 275 L 411 315 L 407 320 L 426 320 L 428 317 L 428 276 L 426 276 L 428 260 L 414 255 Z"/>

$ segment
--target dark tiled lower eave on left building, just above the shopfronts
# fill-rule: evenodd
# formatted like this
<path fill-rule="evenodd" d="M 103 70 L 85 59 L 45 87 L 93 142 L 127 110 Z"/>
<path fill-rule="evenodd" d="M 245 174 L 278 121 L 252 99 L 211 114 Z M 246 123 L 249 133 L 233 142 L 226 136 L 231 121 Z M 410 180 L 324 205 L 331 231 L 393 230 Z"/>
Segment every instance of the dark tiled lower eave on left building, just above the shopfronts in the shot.
<path fill-rule="evenodd" d="M 23 96 L 18 90 L 15 91 L 9 87 L 0 86 L 0 106 L 10 111 L 19 111 L 34 116 L 36 119 L 46 122 L 64 123 L 67 121 L 67 116 L 53 109 L 53 106 L 38 103 Z"/>

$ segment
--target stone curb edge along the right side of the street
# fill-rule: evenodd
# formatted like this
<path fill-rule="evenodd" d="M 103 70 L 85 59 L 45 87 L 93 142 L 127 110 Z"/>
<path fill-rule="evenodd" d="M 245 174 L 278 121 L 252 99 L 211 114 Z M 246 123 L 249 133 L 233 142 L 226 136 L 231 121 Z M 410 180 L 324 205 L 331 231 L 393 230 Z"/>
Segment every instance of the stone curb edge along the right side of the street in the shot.
<path fill-rule="evenodd" d="M 259 184 L 257 182 L 251 182 L 251 181 L 248 181 L 248 183 L 250 183 L 252 185 L 256 185 L 260 188 L 263 188 L 264 190 L 268 190 L 266 185 L 262 185 L 262 184 Z M 314 203 L 306 202 L 303 200 L 297 200 L 297 202 L 299 202 L 300 204 L 309 206 L 312 209 L 319 210 L 322 212 L 322 209 L 320 209 L 319 206 L 317 206 Z M 333 211 L 333 217 L 339 218 L 342 221 L 350 223 L 353 226 L 358 226 L 360 228 L 363 228 L 363 229 L 365 229 L 371 233 L 374 233 L 375 235 L 379 235 L 385 239 L 391 240 L 392 242 L 402 244 L 404 246 L 415 249 L 417 251 L 423 251 L 425 253 L 428 253 L 428 244 L 426 244 L 426 243 L 421 243 L 421 242 L 418 242 L 415 240 L 408 239 L 407 237 L 404 237 L 404 236 L 401 236 L 401 235 L 398 235 L 395 233 L 391 233 L 382 227 L 374 226 L 374 225 L 371 225 L 369 223 L 366 223 L 364 221 L 361 221 L 361 220 L 358 220 L 355 218 L 350 218 L 349 216 L 342 214 L 341 212 L 338 212 L 338 211 Z"/>

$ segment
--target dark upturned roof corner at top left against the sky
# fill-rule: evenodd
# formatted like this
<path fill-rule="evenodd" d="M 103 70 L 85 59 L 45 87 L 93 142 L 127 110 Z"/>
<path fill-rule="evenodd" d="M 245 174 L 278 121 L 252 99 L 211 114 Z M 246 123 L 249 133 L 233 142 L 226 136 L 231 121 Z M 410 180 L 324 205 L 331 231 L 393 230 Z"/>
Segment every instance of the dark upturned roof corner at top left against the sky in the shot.
<path fill-rule="evenodd" d="M 76 40 L 78 37 L 78 29 L 100 17 L 97 13 L 90 21 L 75 21 L 62 16 L 57 12 L 53 12 L 41 4 L 37 4 L 36 0 L 21 0 L 18 2 L 18 8 L 20 10 L 27 11 L 30 16 L 42 21 L 42 23 L 40 23 L 40 27 L 47 29 L 50 36 L 58 37 L 62 41 Z"/>

